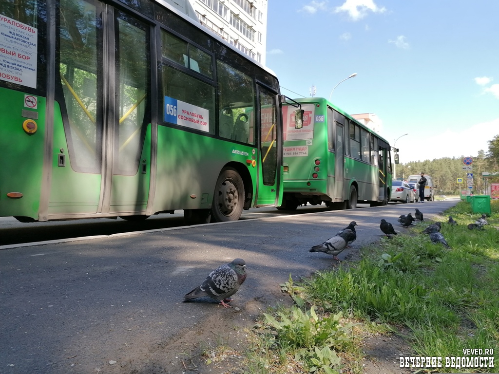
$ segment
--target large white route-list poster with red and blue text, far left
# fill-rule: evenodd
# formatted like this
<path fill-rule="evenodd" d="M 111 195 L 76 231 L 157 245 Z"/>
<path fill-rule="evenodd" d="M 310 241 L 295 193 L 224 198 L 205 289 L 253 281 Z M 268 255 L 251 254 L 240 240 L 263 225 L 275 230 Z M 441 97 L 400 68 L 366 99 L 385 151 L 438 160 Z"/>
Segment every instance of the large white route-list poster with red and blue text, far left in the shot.
<path fill-rule="evenodd" d="M 0 14 L 0 79 L 36 88 L 38 30 Z"/>

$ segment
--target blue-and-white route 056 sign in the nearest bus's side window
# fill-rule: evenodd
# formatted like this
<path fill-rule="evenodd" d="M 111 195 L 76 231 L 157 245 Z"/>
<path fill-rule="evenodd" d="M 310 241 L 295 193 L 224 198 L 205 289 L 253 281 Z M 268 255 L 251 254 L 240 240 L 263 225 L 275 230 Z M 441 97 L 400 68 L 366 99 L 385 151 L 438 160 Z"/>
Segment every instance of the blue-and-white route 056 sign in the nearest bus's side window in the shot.
<path fill-rule="evenodd" d="M 165 96 L 165 122 L 209 132 L 209 115 L 208 109 Z"/>

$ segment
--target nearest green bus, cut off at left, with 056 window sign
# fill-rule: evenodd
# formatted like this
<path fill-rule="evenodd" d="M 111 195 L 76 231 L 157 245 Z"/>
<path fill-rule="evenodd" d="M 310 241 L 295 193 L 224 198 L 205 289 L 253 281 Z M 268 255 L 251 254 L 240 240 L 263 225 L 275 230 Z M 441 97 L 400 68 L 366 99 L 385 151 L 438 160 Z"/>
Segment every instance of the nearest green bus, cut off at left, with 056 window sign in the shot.
<path fill-rule="evenodd" d="M 281 204 L 277 78 L 187 13 L 160 0 L 1 1 L 0 216 L 183 209 L 197 223 Z"/>

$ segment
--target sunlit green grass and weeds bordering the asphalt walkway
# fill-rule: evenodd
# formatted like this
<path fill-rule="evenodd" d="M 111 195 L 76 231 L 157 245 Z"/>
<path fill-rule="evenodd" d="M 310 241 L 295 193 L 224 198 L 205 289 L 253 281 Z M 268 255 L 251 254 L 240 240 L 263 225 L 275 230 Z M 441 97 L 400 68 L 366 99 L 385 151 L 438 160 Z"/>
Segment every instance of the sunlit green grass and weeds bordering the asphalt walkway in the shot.
<path fill-rule="evenodd" d="M 458 226 L 446 223 L 448 215 Z M 492 202 L 489 226 L 469 230 L 468 223 L 479 216 L 463 201 L 442 216 L 441 232 L 452 249 L 421 234 L 429 224 L 422 222 L 408 234 L 363 248 L 362 259 L 351 266 L 317 272 L 299 285 L 290 278 L 281 286 L 296 306 L 265 314 L 255 327 L 267 349 L 265 356 L 252 351 L 252 362 L 263 359 L 266 371 L 247 373 L 286 373 L 286 365 L 297 373 L 341 368 L 360 373 L 361 336 L 373 326 L 404 328 L 413 356 L 462 357 L 466 348 L 493 348 L 499 365 L 499 231 L 494 227 L 499 227 L 499 201 Z M 265 361 L 269 357 L 271 365 Z"/>

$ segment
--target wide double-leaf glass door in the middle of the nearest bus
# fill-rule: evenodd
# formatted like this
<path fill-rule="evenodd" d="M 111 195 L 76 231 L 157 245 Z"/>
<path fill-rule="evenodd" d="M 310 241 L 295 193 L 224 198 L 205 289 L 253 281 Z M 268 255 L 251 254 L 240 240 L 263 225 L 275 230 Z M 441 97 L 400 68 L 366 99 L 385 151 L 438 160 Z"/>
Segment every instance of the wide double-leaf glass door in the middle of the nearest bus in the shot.
<path fill-rule="evenodd" d="M 61 0 L 58 19 L 48 215 L 141 214 L 149 184 L 149 28 L 99 1 Z"/>

